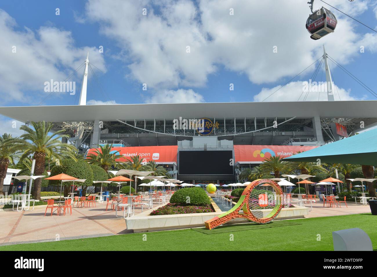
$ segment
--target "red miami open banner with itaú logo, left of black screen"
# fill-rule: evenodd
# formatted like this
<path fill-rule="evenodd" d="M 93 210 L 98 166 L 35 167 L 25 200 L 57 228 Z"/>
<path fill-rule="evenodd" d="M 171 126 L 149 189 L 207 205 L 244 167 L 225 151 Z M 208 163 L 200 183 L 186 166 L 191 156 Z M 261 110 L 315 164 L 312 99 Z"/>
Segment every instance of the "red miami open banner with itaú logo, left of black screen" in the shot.
<path fill-rule="evenodd" d="M 92 153 L 94 149 L 89 149 L 88 154 Z M 119 151 L 116 155 L 120 157 L 116 161 L 131 160 L 131 157 L 139 155 L 143 162 L 177 162 L 178 146 L 113 147 L 112 151 Z"/>

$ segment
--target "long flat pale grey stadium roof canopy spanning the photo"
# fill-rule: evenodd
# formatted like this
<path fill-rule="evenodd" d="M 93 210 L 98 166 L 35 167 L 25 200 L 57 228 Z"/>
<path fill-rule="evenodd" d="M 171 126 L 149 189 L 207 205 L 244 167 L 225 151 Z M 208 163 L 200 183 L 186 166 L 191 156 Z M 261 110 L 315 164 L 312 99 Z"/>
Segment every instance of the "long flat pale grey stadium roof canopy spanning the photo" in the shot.
<path fill-rule="evenodd" d="M 377 101 L 169 103 L 0 107 L 0 114 L 19 120 L 51 122 L 116 119 L 199 119 L 202 117 L 364 118 L 376 115 Z"/>

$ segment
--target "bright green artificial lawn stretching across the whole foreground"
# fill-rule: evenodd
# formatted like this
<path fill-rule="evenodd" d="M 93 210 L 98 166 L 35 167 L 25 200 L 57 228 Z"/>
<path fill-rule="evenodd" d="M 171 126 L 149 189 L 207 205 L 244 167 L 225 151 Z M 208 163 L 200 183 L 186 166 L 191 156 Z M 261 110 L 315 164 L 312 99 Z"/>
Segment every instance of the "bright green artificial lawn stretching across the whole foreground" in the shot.
<path fill-rule="evenodd" d="M 279 228 L 199 233 L 192 229 L 125 234 L 34 244 L 6 245 L 6 250 L 333 250 L 332 231 L 361 228 L 377 250 L 377 217 L 371 214 L 295 219 L 300 225 Z M 79 235 L 79 233 L 78 233 Z M 35 239 L 38 239 L 37 237 Z"/>

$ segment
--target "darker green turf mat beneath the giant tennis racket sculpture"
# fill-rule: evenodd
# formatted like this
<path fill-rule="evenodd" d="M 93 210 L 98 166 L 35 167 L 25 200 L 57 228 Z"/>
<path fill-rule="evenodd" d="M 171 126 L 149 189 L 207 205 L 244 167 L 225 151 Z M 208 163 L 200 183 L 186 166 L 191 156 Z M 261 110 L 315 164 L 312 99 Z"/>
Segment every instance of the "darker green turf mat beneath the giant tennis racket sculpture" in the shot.
<path fill-rule="evenodd" d="M 207 228 L 192 228 L 192 230 L 209 235 L 209 234 L 232 233 L 232 232 L 238 232 L 238 231 L 283 227 L 283 226 L 300 225 L 300 224 L 301 223 L 298 223 L 297 221 L 294 221 L 294 220 L 277 220 L 277 221 L 273 221 L 267 224 L 244 223 L 244 224 L 222 225 L 212 230 L 208 230 Z"/>

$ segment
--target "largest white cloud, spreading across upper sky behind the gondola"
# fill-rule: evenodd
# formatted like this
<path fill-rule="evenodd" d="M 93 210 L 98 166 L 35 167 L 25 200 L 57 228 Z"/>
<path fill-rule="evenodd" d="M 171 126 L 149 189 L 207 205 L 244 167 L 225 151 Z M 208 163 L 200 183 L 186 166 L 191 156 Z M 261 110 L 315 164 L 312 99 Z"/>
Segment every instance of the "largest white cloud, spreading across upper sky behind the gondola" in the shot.
<path fill-rule="evenodd" d="M 99 22 L 100 32 L 117 42 L 124 61 L 131 60 L 130 77 L 159 90 L 204 86 L 219 65 L 247 75 L 256 84 L 276 82 L 318 59 L 323 43 L 330 56 L 348 63 L 360 53 L 363 39 L 354 30 L 358 23 L 333 11 L 338 19 L 336 31 L 319 41 L 311 40 L 305 29 L 309 5 L 297 0 L 279 5 L 276 0 L 208 0 L 198 5 L 189 0 L 104 3 L 89 0 L 86 16 Z M 368 3 L 331 2 L 353 16 L 362 14 Z M 314 8 L 320 5 L 316 2 Z M 143 8 L 147 15 L 142 15 Z M 230 8 L 234 15 L 229 15 Z M 274 46 L 277 53 L 273 53 Z"/>

